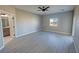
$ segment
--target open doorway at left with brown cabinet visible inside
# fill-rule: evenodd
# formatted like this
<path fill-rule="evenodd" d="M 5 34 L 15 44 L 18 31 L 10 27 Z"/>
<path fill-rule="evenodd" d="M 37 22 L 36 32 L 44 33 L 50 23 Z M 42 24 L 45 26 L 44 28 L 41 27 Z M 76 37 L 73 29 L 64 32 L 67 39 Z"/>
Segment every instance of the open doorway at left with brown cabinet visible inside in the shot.
<path fill-rule="evenodd" d="M 3 43 L 7 44 L 13 39 L 13 22 L 11 15 L 7 13 L 1 13 L 1 21 L 2 21 L 2 36 L 3 36 Z"/>

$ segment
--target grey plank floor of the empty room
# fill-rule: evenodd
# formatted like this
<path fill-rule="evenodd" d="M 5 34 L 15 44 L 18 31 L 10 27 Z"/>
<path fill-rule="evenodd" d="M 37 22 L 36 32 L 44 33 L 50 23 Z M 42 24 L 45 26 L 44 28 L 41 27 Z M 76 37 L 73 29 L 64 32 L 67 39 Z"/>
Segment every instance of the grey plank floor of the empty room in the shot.
<path fill-rule="evenodd" d="M 36 32 L 11 40 L 1 53 L 75 53 L 72 36 Z"/>

